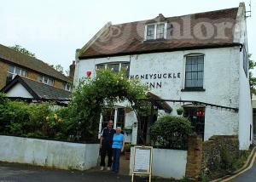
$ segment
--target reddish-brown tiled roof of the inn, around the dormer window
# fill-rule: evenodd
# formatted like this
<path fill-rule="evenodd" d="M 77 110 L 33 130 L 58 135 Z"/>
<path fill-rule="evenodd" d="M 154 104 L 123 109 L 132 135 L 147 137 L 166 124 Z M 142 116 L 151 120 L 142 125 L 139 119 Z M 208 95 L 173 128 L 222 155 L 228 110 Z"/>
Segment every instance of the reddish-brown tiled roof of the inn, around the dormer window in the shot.
<path fill-rule="evenodd" d="M 160 14 L 153 20 L 109 25 L 104 30 L 99 31 L 98 36 L 94 37 L 94 40 L 90 40 L 88 46 L 85 45 L 86 48 L 81 49 L 79 58 L 90 59 L 108 55 L 233 45 L 233 29 L 236 24 L 237 11 L 238 8 L 223 9 L 170 18 L 165 18 Z M 145 25 L 153 22 L 167 22 L 166 40 L 144 41 Z M 205 26 L 198 26 L 202 22 L 210 26 L 218 24 L 219 30 L 224 31 L 225 37 L 218 38 L 216 37 L 219 33 L 217 30 L 212 32 L 207 30 Z M 180 33 L 179 31 L 181 31 L 181 36 L 183 36 L 183 33 L 185 35 L 191 33 L 191 37 L 180 38 L 177 36 Z M 203 37 L 207 37 L 208 33 L 213 33 L 213 36 L 209 38 L 198 37 L 201 34 L 203 34 Z"/>

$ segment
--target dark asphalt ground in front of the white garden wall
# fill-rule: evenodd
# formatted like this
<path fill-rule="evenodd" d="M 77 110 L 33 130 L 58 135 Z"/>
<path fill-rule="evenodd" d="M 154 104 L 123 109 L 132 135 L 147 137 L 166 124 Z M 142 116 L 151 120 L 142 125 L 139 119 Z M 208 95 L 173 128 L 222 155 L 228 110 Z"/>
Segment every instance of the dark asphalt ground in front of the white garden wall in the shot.
<path fill-rule="evenodd" d="M 115 174 L 112 172 L 67 171 L 53 170 L 0 162 L 0 182 L 125 182 L 131 181 L 130 176 Z M 136 178 L 136 182 L 148 181 Z M 170 180 L 153 179 L 153 182 L 170 182 Z"/>

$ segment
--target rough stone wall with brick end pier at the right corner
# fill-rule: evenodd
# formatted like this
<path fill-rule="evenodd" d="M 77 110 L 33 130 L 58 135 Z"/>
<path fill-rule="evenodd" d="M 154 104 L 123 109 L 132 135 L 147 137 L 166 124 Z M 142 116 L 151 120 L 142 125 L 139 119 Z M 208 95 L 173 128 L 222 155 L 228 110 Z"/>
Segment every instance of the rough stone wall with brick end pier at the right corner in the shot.
<path fill-rule="evenodd" d="M 200 137 L 190 137 L 186 177 L 198 179 L 201 172 L 207 176 L 223 174 L 224 165 L 236 160 L 239 153 L 237 135 L 214 135 L 205 142 Z"/>

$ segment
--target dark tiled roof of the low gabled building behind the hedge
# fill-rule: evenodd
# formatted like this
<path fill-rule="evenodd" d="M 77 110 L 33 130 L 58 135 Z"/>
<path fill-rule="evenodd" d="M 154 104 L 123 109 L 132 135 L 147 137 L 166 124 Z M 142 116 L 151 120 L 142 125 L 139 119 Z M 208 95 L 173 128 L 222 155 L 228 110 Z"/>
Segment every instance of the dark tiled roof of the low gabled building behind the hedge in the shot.
<path fill-rule="evenodd" d="M 68 100 L 71 96 L 71 92 L 68 92 L 61 88 L 55 88 L 49 86 L 43 82 L 31 80 L 26 77 L 16 76 L 12 82 L 9 82 L 1 92 L 7 93 L 11 88 L 15 86 L 17 82 L 25 87 L 34 99 L 48 99 L 48 100 Z"/>

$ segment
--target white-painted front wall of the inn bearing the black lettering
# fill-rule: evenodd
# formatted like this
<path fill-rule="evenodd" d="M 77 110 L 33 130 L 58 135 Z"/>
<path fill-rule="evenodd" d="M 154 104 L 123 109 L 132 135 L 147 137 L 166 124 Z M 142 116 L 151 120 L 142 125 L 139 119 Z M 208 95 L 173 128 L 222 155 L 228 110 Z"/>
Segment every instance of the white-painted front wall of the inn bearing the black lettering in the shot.
<path fill-rule="evenodd" d="M 161 88 L 152 88 L 151 92 L 162 99 L 195 100 L 215 105 L 239 107 L 239 61 L 237 60 L 238 47 L 209 48 L 169 53 L 127 55 L 110 58 L 79 60 L 75 71 L 75 85 L 86 71 L 92 71 L 95 76 L 96 65 L 106 62 L 130 61 L 130 75 L 180 73 L 176 78 L 142 79 L 142 82 L 161 82 Z M 204 92 L 182 92 L 184 88 L 185 55 L 204 54 Z M 176 115 L 173 105 L 172 115 Z M 242 108 L 241 108 L 242 110 Z M 238 134 L 238 113 L 208 109 L 206 111 L 205 140 L 213 134 Z M 135 131 L 137 133 L 137 131 Z M 132 136 L 135 138 L 135 136 Z M 136 136 L 137 138 L 137 136 Z"/>

